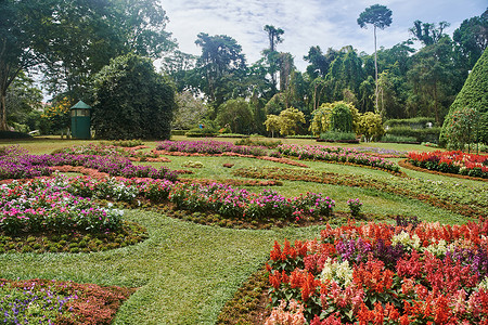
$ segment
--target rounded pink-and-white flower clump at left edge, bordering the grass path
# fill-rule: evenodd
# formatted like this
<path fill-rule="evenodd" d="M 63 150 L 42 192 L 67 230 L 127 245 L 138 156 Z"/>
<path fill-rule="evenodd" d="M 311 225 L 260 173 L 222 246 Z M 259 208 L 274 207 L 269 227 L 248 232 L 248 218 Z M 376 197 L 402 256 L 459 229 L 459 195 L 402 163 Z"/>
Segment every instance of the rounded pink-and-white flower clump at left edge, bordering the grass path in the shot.
<path fill-rule="evenodd" d="M 112 232 L 121 225 L 123 211 L 102 208 L 75 196 L 64 183 L 38 179 L 0 186 L 0 231 L 5 234 L 82 230 Z"/>

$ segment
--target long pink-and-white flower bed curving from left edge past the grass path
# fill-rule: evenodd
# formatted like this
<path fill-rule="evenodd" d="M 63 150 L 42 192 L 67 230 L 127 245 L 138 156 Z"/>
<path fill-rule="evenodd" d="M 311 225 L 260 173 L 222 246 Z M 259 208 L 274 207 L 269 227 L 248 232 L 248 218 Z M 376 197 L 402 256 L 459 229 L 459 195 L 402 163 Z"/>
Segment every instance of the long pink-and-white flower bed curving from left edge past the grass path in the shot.
<path fill-rule="evenodd" d="M 102 208 L 89 210 L 90 213 L 87 218 L 84 213 L 72 216 L 73 211 L 87 210 L 84 205 L 90 203 L 90 200 L 82 199 L 82 197 L 127 203 L 133 203 L 138 199 L 149 199 L 153 203 L 169 202 L 175 204 L 178 209 L 219 213 L 231 219 L 266 221 L 279 219 L 293 222 L 329 217 L 335 206 L 333 199 L 329 196 L 324 197 L 320 193 L 307 193 L 298 197 L 286 198 L 270 190 L 264 190 L 257 194 L 220 183 L 172 183 L 167 180 L 153 179 L 111 178 L 100 180 L 88 177 L 66 178 L 59 176 L 51 180 L 40 179 L 25 184 L 12 183 L 3 185 L 3 187 L 8 193 L 4 194 L 5 205 L 12 206 L 12 208 L 5 209 L 4 218 L 9 218 L 0 222 L 0 230 L 9 232 L 49 229 L 54 225 L 54 222 L 60 224 L 56 226 L 63 227 L 88 227 L 86 225 L 88 220 L 93 222 L 93 224 L 90 223 L 90 229 L 98 229 L 106 226 L 108 222 L 114 223 L 118 220 Z M 44 194 L 46 191 L 49 194 Z M 14 193 L 13 196 L 10 196 L 11 192 Z M 31 198 L 29 193 L 36 198 Z M 53 199 L 51 199 L 50 193 L 60 193 L 57 195 L 60 197 L 53 194 Z M 17 196 L 22 196 L 22 203 L 29 202 L 28 209 L 16 208 L 15 199 Z M 48 208 L 38 207 L 37 205 L 40 204 L 52 204 L 52 209 L 55 212 L 44 211 Z M 41 216 L 46 214 L 46 218 L 50 216 L 56 218 L 43 220 L 40 218 L 39 211 L 42 212 Z M 57 213 L 57 211 L 60 212 Z M 107 217 L 100 219 L 100 213 Z M 36 216 L 36 218 L 33 218 L 33 216 Z M 92 218 L 92 216 L 94 217 Z M 61 221 L 57 220 L 60 218 Z"/>

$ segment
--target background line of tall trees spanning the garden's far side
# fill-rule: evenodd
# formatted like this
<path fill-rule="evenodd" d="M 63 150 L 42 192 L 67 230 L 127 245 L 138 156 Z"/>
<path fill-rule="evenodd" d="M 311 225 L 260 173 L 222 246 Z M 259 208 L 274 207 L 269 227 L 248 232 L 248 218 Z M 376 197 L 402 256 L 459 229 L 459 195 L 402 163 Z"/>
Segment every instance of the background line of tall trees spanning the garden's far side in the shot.
<path fill-rule="evenodd" d="M 381 21 L 363 15 L 370 9 L 378 8 L 367 9 L 358 28 L 389 26 L 390 12 L 389 21 Z M 305 123 L 294 132 L 310 133 L 313 113 L 338 101 L 383 120 L 423 116 L 440 126 L 488 43 L 488 11 L 465 20 L 452 38 L 445 32 L 447 22 L 415 21 L 410 39 L 374 54 L 352 46 L 311 47 L 304 56 L 308 66 L 299 72 L 293 54 L 279 51 L 285 30 L 271 25 L 264 26 L 269 47 L 255 63 L 227 35 L 201 32 L 195 43 L 202 54 L 183 53 L 165 30 L 164 9 L 151 0 L 0 0 L 0 130 L 8 121 L 27 125 L 31 109 L 25 107 L 39 101 L 27 73 L 42 74 L 54 103 L 66 98 L 90 103 L 94 76 L 128 53 L 163 58 L 165 82 L 177 93 L 176 129 L 206 125 L 269 134 L 269 115 L 296 108 Z"/>

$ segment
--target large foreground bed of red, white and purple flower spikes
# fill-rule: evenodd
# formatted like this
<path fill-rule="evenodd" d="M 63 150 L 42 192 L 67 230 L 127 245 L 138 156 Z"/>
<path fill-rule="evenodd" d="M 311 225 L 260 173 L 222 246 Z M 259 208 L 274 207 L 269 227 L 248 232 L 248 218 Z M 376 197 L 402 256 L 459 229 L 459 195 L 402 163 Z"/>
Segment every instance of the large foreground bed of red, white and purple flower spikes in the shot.
<path fill-rule="evenodd" d="M 266 324 L 487 324 L 487 235 L 486 220 L 349 223 L 275 243 Z"/>

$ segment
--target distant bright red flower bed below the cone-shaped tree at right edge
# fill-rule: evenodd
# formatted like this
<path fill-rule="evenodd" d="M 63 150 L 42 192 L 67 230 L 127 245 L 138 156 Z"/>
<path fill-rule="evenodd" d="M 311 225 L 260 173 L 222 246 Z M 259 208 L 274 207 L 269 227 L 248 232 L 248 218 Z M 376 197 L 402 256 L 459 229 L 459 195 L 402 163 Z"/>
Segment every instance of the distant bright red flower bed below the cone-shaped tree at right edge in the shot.
<path fill-rule="evenodd" d="M 488 179 L 488 155 L 466 154 L 460 151 L 411 152 L 408 161 L 429 170 Z"/>

